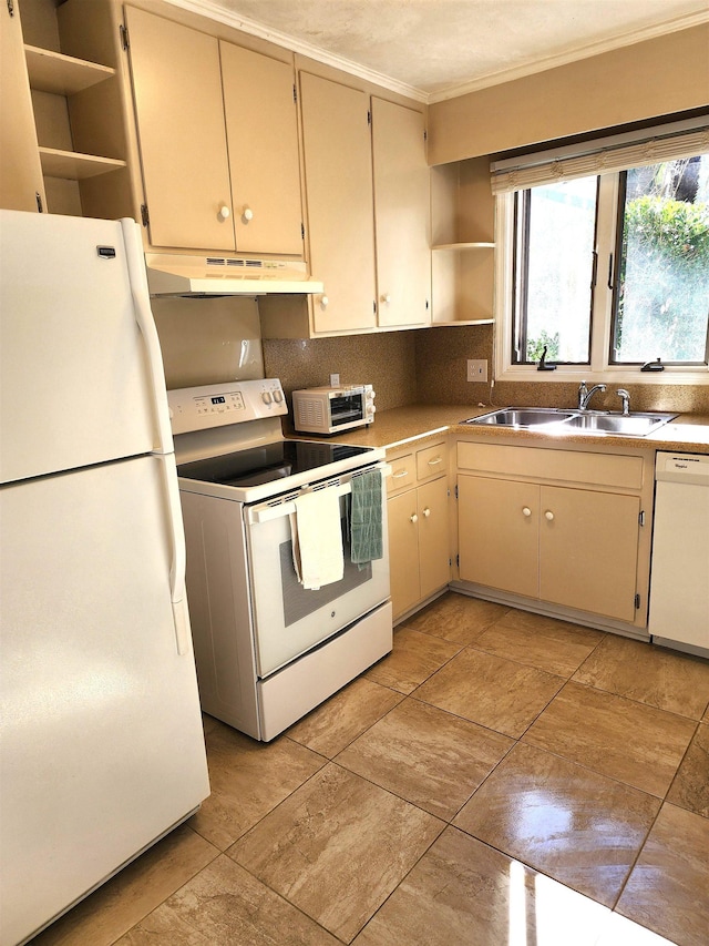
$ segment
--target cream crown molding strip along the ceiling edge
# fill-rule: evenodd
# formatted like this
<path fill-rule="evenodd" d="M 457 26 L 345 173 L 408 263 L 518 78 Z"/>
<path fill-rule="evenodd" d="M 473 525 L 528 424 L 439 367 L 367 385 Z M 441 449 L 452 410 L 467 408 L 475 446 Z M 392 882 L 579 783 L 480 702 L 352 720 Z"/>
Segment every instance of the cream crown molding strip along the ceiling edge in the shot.
<path fill-rule="evenodd" d="M 435 92 L 425 92 L 423 89 L 418 89 L 413 85 L 408 85 L 405 82 L 399 82 L 390 75 L 377 72 L 373 69 L 367 69 L 357 62 L 345 59 L 340 55 L 335 55 L 311 43 L 298 40 L 295 37 L 281 33 L 270 27 L 265 27 L 256 20 L 250 20 L 247 17 L 242 17 L 238 13 L 226 10 L 213 0 L 165 0 L 173 7 L 179 7 L 183 10 L 188 10 L 192 13 L 198 13 L 207 17 L 210 20 L 216 20 L 227 27 L 233 27 L 249 35 L 258 37 L 267 40 L 275 45 L 291 50 L 300 55 L 321 62 L 325 65 L 330 65 L 333 69 L 339 69 L 342 72 L 348 72 L 351 75 L 357 75 L 376 85 L 381 85 L 383 89 L 389 89 L 391 92 L 397 92 L 408 99 L 413 99 L 415 102 L 424 104 L 433 104 L 434 102 L 444 102 L 449 99 L 456 99 L 460 95 L 465 95 L 469 92 L 477 92 L 481 89 L 489 89 L 492 85 L 501 85 L 504 82 L 513 82 L 515 79 L 524 79 L 527 75 L 534 75 L 536 72 L 545 72 L 549 69 L 556 69 L 559 65 L 567 65 L 571 62 L 576 62 L 580 59 L 590 59 L 594 55 L 600 55 L 604 52 L 610 52 L 623 47 L 634 45 L 646 40 L 657 39 L 667 33 L 679 32 L 691 27 L 698 27 L 709 22 L 709 10 L 707 12 L 690 13 L 685 17 L 677 17 L 672 20 L 667 20 L 664 23 L 657 23 L 653 27 L 645 27 L 640 30 L 633 30 L 607 40 L 588 43 L 586 45 L 576 47 L 567 52 L 557 55 L 543 57 L 517 65 L 511 69 L 504 69 L 499 72 L 492 72 L 481 79 L 472 80 L 471 82 L 462 82 L 445 87 Z"/>

